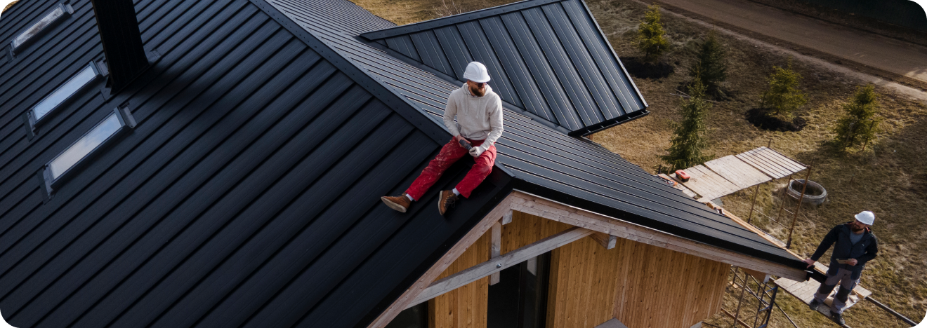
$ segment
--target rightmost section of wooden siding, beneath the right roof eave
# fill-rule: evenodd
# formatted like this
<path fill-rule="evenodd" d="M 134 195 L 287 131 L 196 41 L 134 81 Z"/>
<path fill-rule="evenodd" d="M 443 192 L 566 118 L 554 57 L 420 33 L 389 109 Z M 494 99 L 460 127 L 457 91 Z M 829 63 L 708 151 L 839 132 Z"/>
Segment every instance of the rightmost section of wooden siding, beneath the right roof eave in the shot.
<path fill-rule="evenodd" d="M 690 327 L 721 309 L 729 265 L 618 239 L 615 317 L 629 327 Z"/>

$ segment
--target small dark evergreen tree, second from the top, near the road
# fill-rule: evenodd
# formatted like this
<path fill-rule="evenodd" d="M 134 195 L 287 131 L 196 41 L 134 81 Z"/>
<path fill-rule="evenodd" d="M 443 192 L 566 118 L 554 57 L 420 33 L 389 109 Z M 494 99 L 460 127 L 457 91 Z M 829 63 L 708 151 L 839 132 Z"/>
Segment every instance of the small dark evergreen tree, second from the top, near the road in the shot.
<path fill-rule="evenodd" d="M 725 60 L 724 48 L 717 41 L 715 31 L 708 32 L 705 40 L 699 44 L 699 52 L 695 55 L 695 62 L 689 69 L 689 76 L 699 76 L 705 83 L 705 91 L 715 96 L 721 96 L 721 82 L 728 79 L 728 64 Z"/>

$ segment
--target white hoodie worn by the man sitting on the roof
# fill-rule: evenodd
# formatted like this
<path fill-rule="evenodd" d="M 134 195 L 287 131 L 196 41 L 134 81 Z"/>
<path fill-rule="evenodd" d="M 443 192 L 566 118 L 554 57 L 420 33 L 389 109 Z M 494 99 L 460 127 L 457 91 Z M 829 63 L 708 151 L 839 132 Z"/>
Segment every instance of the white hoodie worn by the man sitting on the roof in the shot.
<path fill-rule="evenodd" d="M 457 122 L 454 122 L 457 115 Z M 448 106 L 444 110 L 444 126 L 451 135 L 461 135 L 468 140 L 485 140 L 477 147 L 476 156 L 489 149 L 502 137 L 502 100 L 489 85 L 486 94 L 476 97 L 470 88 L 464 86 L 451 91 Z"/>

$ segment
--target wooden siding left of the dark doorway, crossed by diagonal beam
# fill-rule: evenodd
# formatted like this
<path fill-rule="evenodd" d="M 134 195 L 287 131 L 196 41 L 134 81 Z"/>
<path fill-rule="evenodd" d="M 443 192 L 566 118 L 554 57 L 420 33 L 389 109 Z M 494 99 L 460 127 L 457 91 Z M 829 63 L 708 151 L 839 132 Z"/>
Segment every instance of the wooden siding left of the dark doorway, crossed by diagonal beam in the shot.
<path fill-rule="evenodd" d="M 438 279 L 489 261 L 489 232 L 464 251 Z M 437 280 L 437 279 L 436 279 Z M 447 294 L 428 300 L 428 327 L 430 328 L 482 328 L 486 327 L 489 299 L 489 276 Z"/>

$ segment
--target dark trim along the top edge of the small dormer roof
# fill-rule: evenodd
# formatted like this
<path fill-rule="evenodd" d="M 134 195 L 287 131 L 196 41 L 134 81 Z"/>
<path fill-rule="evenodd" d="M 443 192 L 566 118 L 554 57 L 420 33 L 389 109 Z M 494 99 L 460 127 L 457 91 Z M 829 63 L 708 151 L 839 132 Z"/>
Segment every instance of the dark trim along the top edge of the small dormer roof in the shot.
<path fill-rule="evenodd" d="M 440 27 L 459 24 L 465 21 L 475 20 L 479 18 L 486 18 L 490 16 L 502 15 L 505 13 L 513 12 L 516 10 L 523 10 L 535 6 L 544 6 L 547 4 L 562 2 L 564 0 L 525 0 L 519 1 L 508 5 L 502 6 L 493 6 L 486 9 L 475 10 L 463 14 L 457 14 L 448 17 L 434 18 L 429 19 L 413 24 L 397 26 L 395 28 L 389 28 L 384 30 L 373 30 L 366 33 L 362 33 L 361 36 L 364 39 L 375 41 L 380 39 L 386 39 L 394 37 L 397 35 L 410 34 L 421 30 L 432 30 L 438 29 Z M 583 4 L 585 6 L 585 3 Z M 586 9 L 589 11 L 589 8 Z M 602 32 L 602 30 L 600 30 Z M 609 44 L 611 45 L 611 44 Z"/>

